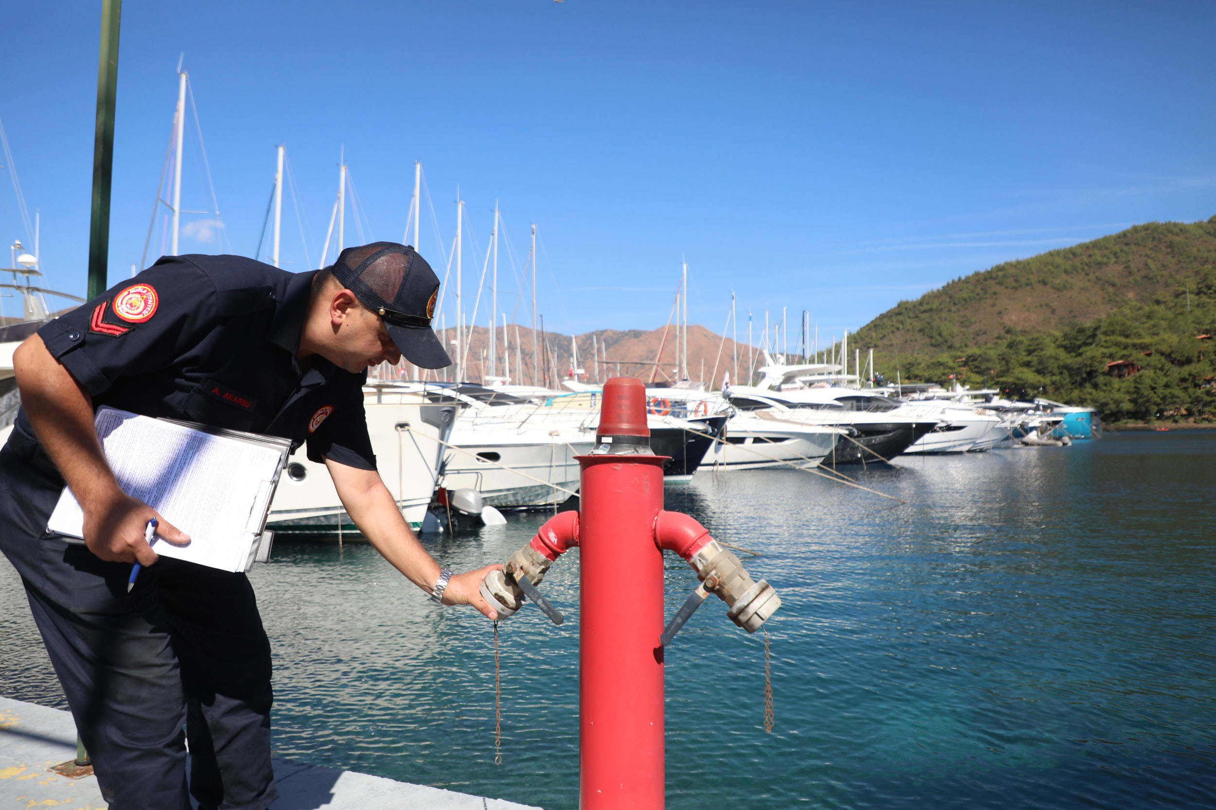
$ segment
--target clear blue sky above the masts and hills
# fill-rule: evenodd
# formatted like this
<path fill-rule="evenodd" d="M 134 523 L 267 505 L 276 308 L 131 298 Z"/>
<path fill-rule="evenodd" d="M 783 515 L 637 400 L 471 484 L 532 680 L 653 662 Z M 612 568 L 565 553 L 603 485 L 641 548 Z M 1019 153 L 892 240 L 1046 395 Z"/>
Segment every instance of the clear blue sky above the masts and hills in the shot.
<path fill-rule="evenodd" d="M 100 5 L 5 4 L 0 120 L 47 284 L 77 294 Z M 536 222 L 550 329 L 662 325 L 685 256 L 692 322 L 721 330 L 733 288 L 742 325 L 787 306 L 822 339 L 1003 260 L 1216 214 L 1212 30 L 1211 2 L 128 0 L 109 281 L 143 250 L 184 52 L 225 227 L 191 114 L 182 208 L 210 213 L 182 215 L 182 253 L 254 254 L 286 143 L 306 226 L 288 188 L 283 266 L 315 264 L 344 148 L 367 240 L 402 237 L 422 162 L 440 274 L 460 187 L 467 295 L 495 199 L 518 264 Z M 0 237 L 26 240 L 7 169 Z M 505 251 L 500 273 L 511 312 Z"/>

